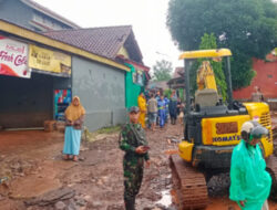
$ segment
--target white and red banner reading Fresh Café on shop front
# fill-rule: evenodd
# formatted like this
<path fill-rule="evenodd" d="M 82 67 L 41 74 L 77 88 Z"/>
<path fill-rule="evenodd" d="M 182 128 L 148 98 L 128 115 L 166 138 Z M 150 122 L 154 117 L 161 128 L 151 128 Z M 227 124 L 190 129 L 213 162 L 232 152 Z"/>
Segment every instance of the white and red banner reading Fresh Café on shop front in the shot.
<path fill-rule="evenodd" d="M 28 44 L 0 35 L 0 74 L 30 78 Z"/>

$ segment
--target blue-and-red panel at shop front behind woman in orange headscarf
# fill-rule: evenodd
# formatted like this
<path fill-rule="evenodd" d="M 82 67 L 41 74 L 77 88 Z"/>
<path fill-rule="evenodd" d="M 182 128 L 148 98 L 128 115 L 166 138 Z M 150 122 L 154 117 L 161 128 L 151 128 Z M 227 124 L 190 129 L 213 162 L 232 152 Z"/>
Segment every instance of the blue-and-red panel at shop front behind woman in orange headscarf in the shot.
<path fill-rule="evenodd" d="M 64 120 L 64 112 L 71 103 L 71 90 L 54 91 L 54 117 L 57 120 Z"/>

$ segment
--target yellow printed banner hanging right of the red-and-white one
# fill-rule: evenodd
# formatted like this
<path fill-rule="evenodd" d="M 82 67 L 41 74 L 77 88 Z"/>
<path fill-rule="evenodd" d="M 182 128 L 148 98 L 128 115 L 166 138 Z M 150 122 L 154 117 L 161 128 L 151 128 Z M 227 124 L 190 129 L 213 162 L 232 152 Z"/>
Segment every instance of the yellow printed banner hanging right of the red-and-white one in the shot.
<path fill-rule="evenodd" d="M 41 71 L 70 75 L 71 56 L 35 45 L 29 45 L 29 66 Z"/>

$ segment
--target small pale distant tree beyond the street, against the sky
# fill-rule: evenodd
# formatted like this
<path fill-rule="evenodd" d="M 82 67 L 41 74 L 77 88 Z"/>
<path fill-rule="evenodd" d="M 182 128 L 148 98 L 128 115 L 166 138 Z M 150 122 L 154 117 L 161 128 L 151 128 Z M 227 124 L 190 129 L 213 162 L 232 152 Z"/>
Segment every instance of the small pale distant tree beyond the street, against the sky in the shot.
<path fill-rule="evenodd" d="M 172 78 L 172 63 L 165 60 L 156 61 L 156 64 L 153 66 L 154 71 L 154 81 L 168 81 Z"/>

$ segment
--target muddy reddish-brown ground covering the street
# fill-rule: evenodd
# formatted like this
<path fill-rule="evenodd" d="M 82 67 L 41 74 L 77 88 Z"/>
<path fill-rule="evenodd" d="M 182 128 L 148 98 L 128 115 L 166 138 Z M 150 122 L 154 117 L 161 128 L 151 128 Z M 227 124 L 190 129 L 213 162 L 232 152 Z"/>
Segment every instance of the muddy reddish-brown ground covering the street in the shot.
<path fill-rule="evenodd" d="M 168 125 L 163 130 L 146 132 L 152 165 L 145 169 L 137 210 L 175 209 L 166 204 L 171 197 L 162 193 L 174 195 L 168 155 L 175 151 L 182 130 L 181 125 Z M 73 162 L 62 160 L 61 133 L 1 132 L 0 179 L 6 180 L 0 183 L 0 210 L 123 209 L 123 153 L 117 140 L 115 133 L 102 134 L 93 143 L 83 141 L 81 160 Z M 209 195 L 207 209 L 238 209 L 228 200 L 227 187 L 219 188 L 216 197 Z M 270 202 L 270 209 L 277 209 L 277 204 Z"/>

